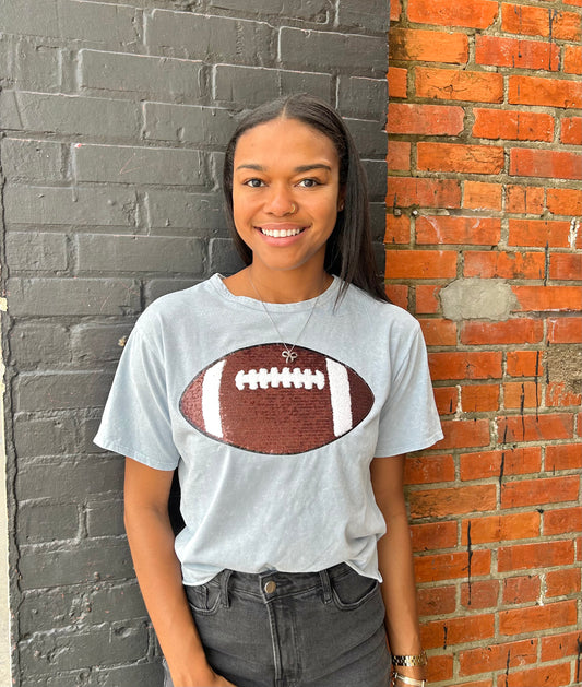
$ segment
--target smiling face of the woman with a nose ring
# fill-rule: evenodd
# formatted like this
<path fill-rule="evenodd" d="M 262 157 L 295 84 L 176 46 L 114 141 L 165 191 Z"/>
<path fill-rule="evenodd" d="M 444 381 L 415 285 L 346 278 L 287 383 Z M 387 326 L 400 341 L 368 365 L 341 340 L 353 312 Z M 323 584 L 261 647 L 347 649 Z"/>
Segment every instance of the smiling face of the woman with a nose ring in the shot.
<path fill-rule="evenodd" d="M 234 218 L 253 265 L 323 271 L 342 203 L 340 159 L 323 133 L 297 119 L 274 119 L 238 140 Z"/>

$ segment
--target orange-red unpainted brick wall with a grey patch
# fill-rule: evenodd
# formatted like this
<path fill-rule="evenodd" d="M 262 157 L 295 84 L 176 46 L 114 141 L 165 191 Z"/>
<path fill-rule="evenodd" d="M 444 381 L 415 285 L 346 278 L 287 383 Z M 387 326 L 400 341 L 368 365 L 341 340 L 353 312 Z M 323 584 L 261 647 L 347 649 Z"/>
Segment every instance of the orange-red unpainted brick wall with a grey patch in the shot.
<path fill-rule="evenodd" d="M 582 680 L 580 0 L 397 0 L 387 288 L 446 438 L 407 463 L 433 683 Z"/>

